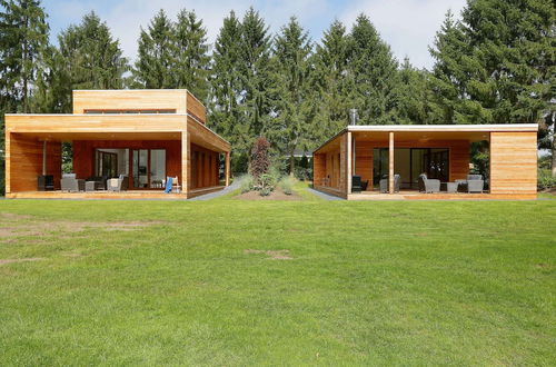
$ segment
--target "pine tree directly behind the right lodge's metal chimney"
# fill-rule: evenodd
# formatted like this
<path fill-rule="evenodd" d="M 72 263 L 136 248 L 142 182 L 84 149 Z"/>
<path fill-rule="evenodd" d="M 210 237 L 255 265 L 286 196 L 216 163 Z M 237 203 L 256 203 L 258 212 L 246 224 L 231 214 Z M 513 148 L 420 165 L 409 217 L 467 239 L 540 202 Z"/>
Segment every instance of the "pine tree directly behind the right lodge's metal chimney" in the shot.
<path fill-rule="evenodd" d="M 350 99 L 359 123 L 397 123 L 397 61 L 369 18 L 357 17 L 349 44 Z"/>

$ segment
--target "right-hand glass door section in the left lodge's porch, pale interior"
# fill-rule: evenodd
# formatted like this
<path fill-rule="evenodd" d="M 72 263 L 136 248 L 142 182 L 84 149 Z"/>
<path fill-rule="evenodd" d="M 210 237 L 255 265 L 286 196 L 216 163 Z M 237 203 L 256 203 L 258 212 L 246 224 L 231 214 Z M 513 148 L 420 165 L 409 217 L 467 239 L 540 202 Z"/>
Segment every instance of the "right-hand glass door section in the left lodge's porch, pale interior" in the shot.
<path fill-rule="evenodd" d="M 133 189 L 162 189 L 166 182 L 166 150 L 133 149 L 131 172 Z"/>

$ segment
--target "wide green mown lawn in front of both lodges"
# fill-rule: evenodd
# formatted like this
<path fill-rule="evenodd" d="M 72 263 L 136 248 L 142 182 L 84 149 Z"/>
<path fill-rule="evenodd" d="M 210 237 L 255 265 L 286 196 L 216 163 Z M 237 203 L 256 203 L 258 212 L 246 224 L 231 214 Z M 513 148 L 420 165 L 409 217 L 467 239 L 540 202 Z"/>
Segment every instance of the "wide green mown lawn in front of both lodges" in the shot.
<path fill-rule="evenodd" d="M 304 197 L 0 200 L 0 365 L 556 360 L 556 200 Z"/>

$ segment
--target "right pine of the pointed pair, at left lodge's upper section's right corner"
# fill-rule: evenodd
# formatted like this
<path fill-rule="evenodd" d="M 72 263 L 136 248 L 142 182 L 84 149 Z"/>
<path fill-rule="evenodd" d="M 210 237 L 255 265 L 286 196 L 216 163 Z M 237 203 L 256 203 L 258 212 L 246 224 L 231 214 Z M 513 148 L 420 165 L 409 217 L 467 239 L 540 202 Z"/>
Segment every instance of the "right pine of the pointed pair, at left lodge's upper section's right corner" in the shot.
<path fill-rule="evenodd" d="M 175 26 L 176 88 L 187 88 L 201 101 L 208 96 L 208 56 L 207 30 L 195 11 L 185 9 L 178 13 Z"/>

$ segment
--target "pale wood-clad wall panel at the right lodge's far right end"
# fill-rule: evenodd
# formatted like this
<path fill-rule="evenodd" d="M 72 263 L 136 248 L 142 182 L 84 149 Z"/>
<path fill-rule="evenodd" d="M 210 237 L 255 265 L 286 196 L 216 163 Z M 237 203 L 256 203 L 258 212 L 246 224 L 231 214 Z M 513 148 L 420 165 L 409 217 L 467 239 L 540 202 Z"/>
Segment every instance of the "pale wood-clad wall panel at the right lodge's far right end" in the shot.
<path fill-rule="evenodd" d="M 537 135 L 492 132 L 490 192 L 535 194 L 536 191 Z"/>

